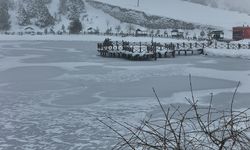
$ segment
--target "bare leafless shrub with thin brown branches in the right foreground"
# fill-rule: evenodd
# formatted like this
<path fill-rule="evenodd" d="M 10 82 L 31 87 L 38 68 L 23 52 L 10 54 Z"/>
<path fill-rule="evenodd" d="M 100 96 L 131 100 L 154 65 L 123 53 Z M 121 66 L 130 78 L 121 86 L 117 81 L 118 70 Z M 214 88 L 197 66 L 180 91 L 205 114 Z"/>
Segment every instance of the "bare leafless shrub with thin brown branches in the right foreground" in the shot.
<path fill-rule="evenodd" d="M 186 98 L 189 107 L 183 111 L 180 107 L 172 106 L 165 108 L 155 89 L 153 92 L 158 101 L 164 117 L 155 119 L 144 118 L 140 125 L 118 122 L 108 116 L 106 121 L 98 119 L 102 124 L 114 131 L 119 142 L 113 149 L 132 150 L 248 150 L 250 139 L 247 135 L 249 130 L 249 115 L 246 110 L 236 111 L 233 109 L 235 95 L 240 83 L 238 83 L 228 110 L 216 110 L 213 108 L 213 94 L 210 104 L 205 109 L 198 105 L 194 98 L 191 75 L 190 91 L 191 98 Z M 111 121 L 113 125 L 107 123 Z M 122 134 L 114 127 L 114 124 L 126 130 Z"/>

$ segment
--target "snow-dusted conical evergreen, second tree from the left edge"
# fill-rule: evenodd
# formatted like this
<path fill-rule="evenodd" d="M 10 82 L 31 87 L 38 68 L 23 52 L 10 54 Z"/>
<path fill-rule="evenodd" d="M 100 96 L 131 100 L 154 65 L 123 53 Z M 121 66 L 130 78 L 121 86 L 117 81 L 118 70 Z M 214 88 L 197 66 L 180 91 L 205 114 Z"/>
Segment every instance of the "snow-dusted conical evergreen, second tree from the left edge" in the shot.
<path fill-rule="evenodd" d="M 17 22 L 20 26 L 26 26 L 30 24 L 30 18 L 27 14 L 24 6 L 20 3 L 17 11 Z"/>

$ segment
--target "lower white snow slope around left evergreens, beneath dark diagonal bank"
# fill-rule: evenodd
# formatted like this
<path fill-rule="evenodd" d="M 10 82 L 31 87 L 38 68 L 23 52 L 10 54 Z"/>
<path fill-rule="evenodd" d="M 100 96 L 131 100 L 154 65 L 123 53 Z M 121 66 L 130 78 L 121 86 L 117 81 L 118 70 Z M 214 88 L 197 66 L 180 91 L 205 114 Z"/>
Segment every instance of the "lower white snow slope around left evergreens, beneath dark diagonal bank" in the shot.
<path fill-rule="evenodd" d="M 85 0 L 84 0 L 85 2 Z M 18 3 L 18 1 L 16 1 Z M 100 32 L 105 32 L 107 28 L 112 28 L 113 32 L 115 32 L 115 27 L 120 25 L 121 30 L 125 31 L 126 27 L 128 26 L 127 23 L 121 23 L 119 20 L 113 18 L 112 16 L 106 14 L 102 10 L 98 10 L 96 8 L 93 8 L 88 3 L 85 4 L 86 13 L 82 13 L 80 20 L 83 24 L 83 31 L 86 31 L 88 28 L 92 27 L 94 29 L 99 29 Z M 50 11 L 50 14 L 55 17 L 55 15 L 60 16 L 58 13 L 58 7 L 59 7 L 59 0 L 52 0 L 50 4 L 47 5 L 48 9 Z M 17 24 L 17 10 L 10 10 L 9 11 L 11 16 L 11 31 L 23 31 L 26 26 L 19 26 Z M 70 20 L 67 18 L 67 16 L 61 15 L 61 20 L 59 22 L 56 22 L 53 27 L 47 27 L 47 28 L 53 28 L 55 31 L 61 30 L 62 25 L 64 25 L 67 29 Z M 29 25 L 33 27 L 36 31 L 43 32 L 44 29 L 40 29 L 39 27 L 35 25 Z M 138 27 L 138 26 L 135 26 Z M 142 28 L 142 27 L 140 27 Z M 142 28 L 143 29 L 143 28 Z"/>

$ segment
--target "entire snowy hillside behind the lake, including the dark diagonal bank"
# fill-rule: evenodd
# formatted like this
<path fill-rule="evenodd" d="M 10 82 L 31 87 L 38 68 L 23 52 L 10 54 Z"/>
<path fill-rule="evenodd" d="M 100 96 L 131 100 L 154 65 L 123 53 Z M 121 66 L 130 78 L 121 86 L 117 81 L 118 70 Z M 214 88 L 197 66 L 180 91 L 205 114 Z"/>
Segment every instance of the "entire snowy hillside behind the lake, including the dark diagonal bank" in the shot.
<path fill-rule="evenodd" d="M 210 7 L 211 0 L 199 3 L 197 0 L 8 0 L 12 7 L 9 9 L 11 16 L 11 31 L 20 31 L 27 26 L 35 28 L 36 31 L 43 32 L 45 28 L 61 30 L 65 26 L 66 30 L 69 26 L 70 6 L 62 7 L 62 2 L 72 3 L 73 1 L 82 1 L 84 5 L 80 8 L 79 18 L 83 24 L 83 30 L 93 28 L 101 32 L 105 32 L 108 28 L 112 28 L 113 32 L 118 27 L 120 31 L 126 32 L 130 24 L 135 24 L 134 28 L 140 27 L 146 29 L 168 29 L 168 28 L 222 28 L 231 30 L 233 26 L 250 25 L 250 16 L 246 13 L 230 11 L 234 3 L 227 4 L 229 1 L 218 8 Z M 17 16 L 19 14 L 20 2 L 27 11 L 29 2 L 45 1 L 49 11 L 49 16 L 54 18 L 54 23 L 43 25 L 40 18 L 31 18 L 30 22 L 20 25 Z M 191 1 L 191 2 L 189 2 Z M 223 0 L 217 1 L 221 4 Z M 231 1 L 231 0 L 230 0 Z M 244 0 L 240 0 L 244 1 Z M 199 4 L 197 4 L 197 2 Z M 210 2 L 210 3 L 208 3 Z M 220 2 L 220 3 L 219 3 Z M 97 5 L 98 3 L 98 5 Z M 224 4 L 224 3 L 223 3 Z M 208 6 L 204 6 L 208 5 Z M 79 6 L 79 5 L 78 5 Z M 61 9 L 60 9 L 61 8 Z M 61 12 L 63 10 L 63 12 Z M 108 10 L 108 11 L 107 11 Z M 125 11 L 126 13 L 124 13 Z M 73 15 L 74 16 L 74 15 Z M 40 20 L 39 20 L 40 19 Z M 40 22 L 37 22 L 40 21 Z M 47 21 L 47 20 L 46 20 Z"/>

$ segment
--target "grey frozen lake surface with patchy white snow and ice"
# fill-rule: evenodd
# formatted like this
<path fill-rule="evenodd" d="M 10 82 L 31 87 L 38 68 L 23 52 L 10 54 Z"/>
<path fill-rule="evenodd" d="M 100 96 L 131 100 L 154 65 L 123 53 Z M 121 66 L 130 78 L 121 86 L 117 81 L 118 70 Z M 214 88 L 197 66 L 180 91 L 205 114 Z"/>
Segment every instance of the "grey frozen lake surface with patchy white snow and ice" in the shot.
<path fill-rule="evenodd" d="M 135 122 L 162 102 L 209 93 L 220 109 L 250 107 L 250 60 L 208 56 L 127 61 L 96 55 L 95 42 L 0 42 L 0 150 L 107 150 L 113 133 L 96 118 Z"/>

